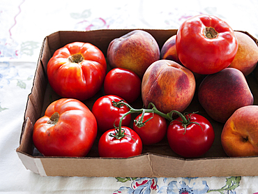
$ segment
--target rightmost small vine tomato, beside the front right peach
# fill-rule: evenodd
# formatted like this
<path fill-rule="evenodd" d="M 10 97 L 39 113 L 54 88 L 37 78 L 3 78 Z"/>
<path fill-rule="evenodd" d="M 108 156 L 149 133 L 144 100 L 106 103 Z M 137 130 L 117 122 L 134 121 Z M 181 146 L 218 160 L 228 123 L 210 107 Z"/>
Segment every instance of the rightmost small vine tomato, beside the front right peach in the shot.
<path fill-rule="evenodd" d="M 176 154 L 187 158 L 202 156 L 213 144 L 215 137 L 213 127 L 199 114 L 187 114 L 185 117 L 187 119 L 190 117 L 189 121 L 197 124 L 190 123 L 184 128 L 181 117 L 172 121 L 167 129 L 169 146 Z"/>

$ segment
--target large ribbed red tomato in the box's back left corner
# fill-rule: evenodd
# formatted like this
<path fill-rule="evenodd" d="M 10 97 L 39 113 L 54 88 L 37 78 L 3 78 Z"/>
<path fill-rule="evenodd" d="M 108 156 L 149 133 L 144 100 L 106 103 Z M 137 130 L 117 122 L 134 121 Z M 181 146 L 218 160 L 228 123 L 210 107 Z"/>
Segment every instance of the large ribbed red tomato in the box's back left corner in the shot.
<path fill-rule="evenodd" d="M 102 87 L 106 72 L 103 52 L 90 43 L 61 47 L 47 64 L 50 85 L 63 98 L 91 98 Z"/>

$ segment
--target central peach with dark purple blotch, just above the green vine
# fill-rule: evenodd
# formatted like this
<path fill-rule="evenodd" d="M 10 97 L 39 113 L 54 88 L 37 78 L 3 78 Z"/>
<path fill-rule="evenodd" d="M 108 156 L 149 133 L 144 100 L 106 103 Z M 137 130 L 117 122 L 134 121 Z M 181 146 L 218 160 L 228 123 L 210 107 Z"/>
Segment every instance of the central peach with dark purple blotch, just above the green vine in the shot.
<path fill-rule="evenodd" d="M 175 61 L 161 59 L 147 68 L 142 78 L 142 101 L 160 112 L 183 112 L 195 94 L 195 76 Z"/>

